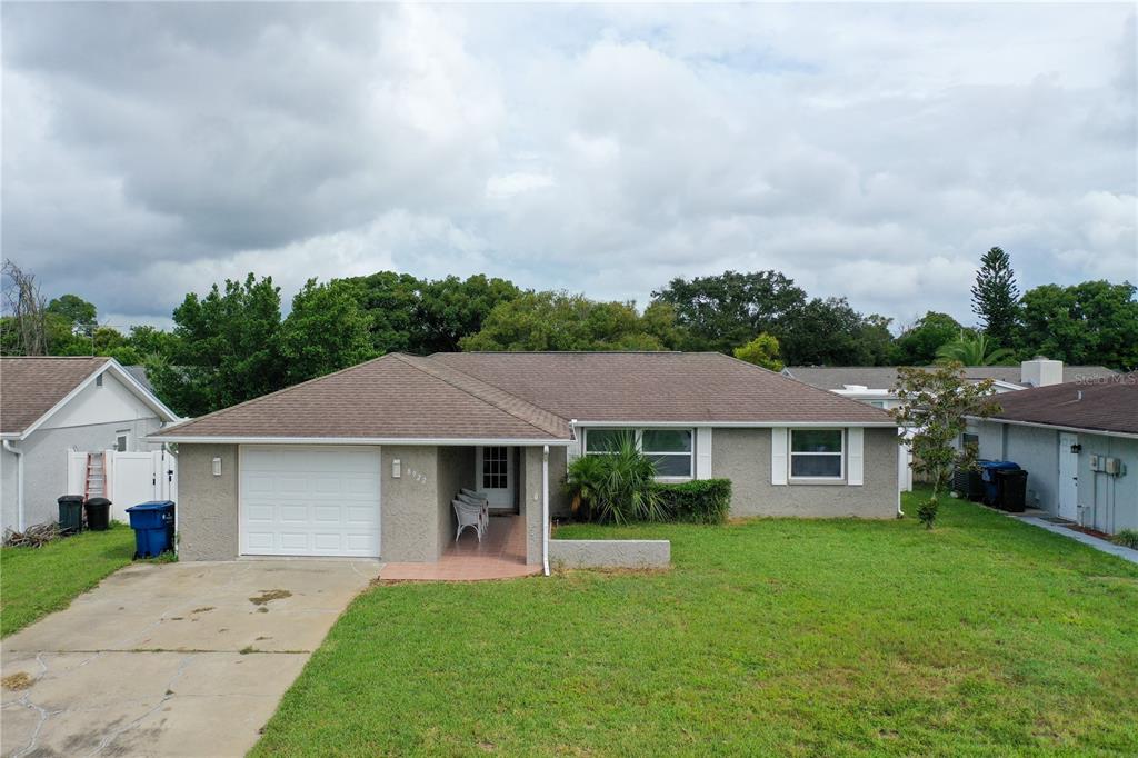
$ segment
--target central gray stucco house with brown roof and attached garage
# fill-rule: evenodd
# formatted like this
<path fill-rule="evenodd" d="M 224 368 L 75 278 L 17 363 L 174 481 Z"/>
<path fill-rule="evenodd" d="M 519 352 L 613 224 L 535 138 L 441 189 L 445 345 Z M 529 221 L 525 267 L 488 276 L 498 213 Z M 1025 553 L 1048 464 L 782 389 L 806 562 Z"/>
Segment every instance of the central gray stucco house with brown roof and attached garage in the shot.
<path fill-rule="evenodd" d="M 388 354 L 151 439 L 178 443 L 183 560 L 434 562 L 465 487 L 541 565 L 567 463 L 619 430 L 661 480 L 729 478 L 733 516 L 898 509 L 888 414 L 718 353 Z"/>

